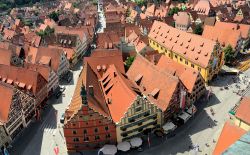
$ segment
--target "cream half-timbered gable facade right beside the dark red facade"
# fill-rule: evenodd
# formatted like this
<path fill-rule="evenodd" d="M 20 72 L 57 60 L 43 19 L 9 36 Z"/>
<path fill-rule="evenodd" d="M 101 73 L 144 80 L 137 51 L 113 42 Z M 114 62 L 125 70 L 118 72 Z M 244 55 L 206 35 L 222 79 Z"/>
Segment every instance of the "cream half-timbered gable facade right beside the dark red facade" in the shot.
<path fill-rule="evenodd" d="M 162 125 L 161 111 L 146 98 L 138 96 L 116 126 L 117 142 L 140 137 L 146 129 Z"/>

